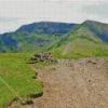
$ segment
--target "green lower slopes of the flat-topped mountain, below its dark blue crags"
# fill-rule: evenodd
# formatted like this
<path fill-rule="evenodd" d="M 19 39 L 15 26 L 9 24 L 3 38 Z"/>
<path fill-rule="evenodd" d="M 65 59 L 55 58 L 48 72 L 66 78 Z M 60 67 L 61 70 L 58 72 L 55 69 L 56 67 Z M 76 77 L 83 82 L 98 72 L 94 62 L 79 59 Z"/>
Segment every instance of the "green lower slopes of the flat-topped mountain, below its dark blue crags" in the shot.
<path fill-rule="evenodd" d="M 29 32 L 28 36 L 25 36 L 25 32 L 19 32 L 14 36 L 14 39 L 17 41 L 17 46 L 22 43 L 19 49 L 16 49 L 19 52 L 35 52 L 35 51 L 46 51 L 56 46 L 60 41 L 66 40 L 67 37 L 77 29 L 78 25 L 73 25 L 68 29 L 66 33 L 42 33 L 36 32 L 38 29 Z"/>

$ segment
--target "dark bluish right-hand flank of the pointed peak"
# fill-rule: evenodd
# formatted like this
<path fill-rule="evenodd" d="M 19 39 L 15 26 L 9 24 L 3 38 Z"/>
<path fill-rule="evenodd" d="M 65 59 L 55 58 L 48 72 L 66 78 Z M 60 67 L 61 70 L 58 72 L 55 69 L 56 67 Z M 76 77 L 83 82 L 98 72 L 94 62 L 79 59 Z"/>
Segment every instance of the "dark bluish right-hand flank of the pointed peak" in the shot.
<path fill-rule="evenodd" d="M 94 21 L 86 21 L 83 23 L 83 28 L 86 28 L 87 35 L 94 36 L 95 39 L 102 40 L 103 42 L 108 43 L 108 24 L 94 22 Z M 92 37 L 91 37 L 92 38 Z"/>

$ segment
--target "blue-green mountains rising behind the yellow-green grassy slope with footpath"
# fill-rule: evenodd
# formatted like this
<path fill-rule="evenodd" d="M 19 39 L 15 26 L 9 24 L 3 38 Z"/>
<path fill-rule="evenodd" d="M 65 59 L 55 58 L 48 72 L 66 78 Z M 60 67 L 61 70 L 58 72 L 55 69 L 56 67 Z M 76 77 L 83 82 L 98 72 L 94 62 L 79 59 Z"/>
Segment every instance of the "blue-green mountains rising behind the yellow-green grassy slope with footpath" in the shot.
<path fill-rule="evenodd" d="M 108 43 L 108 24 L 85 21 L 82 24 L 40 22 L 24 25 L 14 32 L 0 35 L 0 52 L 49 51 L 81 36 Z"/>

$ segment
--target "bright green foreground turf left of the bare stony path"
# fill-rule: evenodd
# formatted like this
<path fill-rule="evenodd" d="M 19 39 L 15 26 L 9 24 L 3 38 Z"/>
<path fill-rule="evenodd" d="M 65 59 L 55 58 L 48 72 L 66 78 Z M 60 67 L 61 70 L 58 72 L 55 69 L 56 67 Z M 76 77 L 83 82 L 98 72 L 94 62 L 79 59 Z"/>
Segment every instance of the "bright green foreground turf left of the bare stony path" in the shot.
<path fill-rule="evenodd" d="M 36 75 L 36 71 L 25 64 L 25 59 L 31 55 L 32 53 L 0 54 L 0 77 L 23 98 L 25 95 L 42 92 L 42 81 L 33 80 L 31 77 Z M 0 108 L 15 97 L 15 94 L 0 81 Z"/>

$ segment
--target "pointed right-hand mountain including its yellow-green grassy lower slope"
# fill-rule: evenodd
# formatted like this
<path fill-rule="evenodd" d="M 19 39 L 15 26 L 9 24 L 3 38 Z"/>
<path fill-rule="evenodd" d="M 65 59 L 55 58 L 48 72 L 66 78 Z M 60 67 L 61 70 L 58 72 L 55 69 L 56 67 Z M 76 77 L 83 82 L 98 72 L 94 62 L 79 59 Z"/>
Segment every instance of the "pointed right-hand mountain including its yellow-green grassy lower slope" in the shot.
<path fill-rule="evenodd" d="M 89 56 L 108 56 L 108 25 L 86 21 L 79 25 L 55 50 L 51 50 L 55 57 L 79 58 Z"/>

